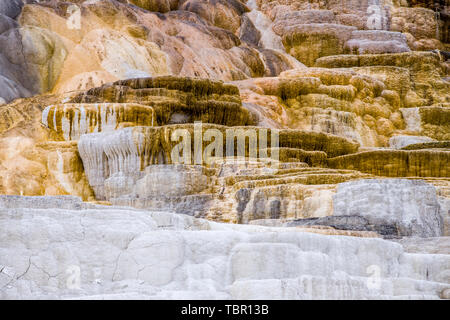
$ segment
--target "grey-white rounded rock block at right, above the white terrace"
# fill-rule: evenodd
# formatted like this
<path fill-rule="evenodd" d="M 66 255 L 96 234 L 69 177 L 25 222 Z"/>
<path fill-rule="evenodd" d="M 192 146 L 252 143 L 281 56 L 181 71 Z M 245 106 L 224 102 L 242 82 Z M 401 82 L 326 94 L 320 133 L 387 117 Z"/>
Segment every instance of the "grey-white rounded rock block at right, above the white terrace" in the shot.
<path fill-rule="evenodd" d="M 438 237 L 443 218 L 434 186 L 418 180 L 371 179 L 338 185 L 335 216 L 362 217 L 389 236 Z M 363 229 L 364 230 L 364 229 Z"/>

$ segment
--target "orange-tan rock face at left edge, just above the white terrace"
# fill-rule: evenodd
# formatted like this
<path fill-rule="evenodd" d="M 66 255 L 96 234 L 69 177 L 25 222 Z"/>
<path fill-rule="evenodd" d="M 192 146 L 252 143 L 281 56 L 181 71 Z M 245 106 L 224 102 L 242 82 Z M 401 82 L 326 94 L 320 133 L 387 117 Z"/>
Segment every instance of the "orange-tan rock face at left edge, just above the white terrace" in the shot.
<path fill-rule="evenodd" d="M 47 105 L 63 97 L 19 99 L 0 107 L 0 192 L 10 195 L 76 195 L 94 200 L 77 145 L 52 142 L 42 123 Z"/>

